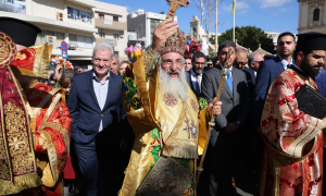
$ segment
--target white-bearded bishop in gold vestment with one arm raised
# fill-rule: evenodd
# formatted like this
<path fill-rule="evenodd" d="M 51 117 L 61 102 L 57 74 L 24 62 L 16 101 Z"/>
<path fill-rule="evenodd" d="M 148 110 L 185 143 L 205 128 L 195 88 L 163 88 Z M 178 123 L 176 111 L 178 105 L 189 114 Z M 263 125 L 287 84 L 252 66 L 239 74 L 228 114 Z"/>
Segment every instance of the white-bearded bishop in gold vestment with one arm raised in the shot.
<path fill-rule="evenodd" d="M 170 23 L 168 20 L 161 23 L 154 36 Z M 162 155 L 195 173 L 195 160 L 202 154 L 206 140 L 206 119 L 210 120 L 211 111 L 215 111 L 215 115 L 221 113 L 221 102 L 208 106 L 204 99 L 196 97 L 185 79 L 184 33 L 177 30 L 168 36 L 160 60 L 154 46 L 158 48 L 155 41 L 153 49 L 148 49 L 129 65 L 123 76 L 122 93 L 136 139 L 121 196 L 136 195 Z M 173 81 L 173 77 L 178 79 Z M 190 182 L 184 195 L 193 194 Z"/>

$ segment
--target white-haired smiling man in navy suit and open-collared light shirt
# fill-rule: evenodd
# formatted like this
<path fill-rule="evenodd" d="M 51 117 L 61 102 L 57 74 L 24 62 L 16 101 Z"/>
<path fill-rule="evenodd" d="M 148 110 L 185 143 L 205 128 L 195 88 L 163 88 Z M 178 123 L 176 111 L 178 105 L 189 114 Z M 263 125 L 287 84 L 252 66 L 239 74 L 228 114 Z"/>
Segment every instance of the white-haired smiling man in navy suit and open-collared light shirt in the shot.
<path fill-rule="evenodd" d="M 67 101 L 72 142 L 83 181 L 82 195 L 116 195 L 118 156 L 128 123 L 120 86 L 122 76 L 109 72 L 113 49 L 106 42 L 93 49 L 89 72 L 74 75 Z"/>

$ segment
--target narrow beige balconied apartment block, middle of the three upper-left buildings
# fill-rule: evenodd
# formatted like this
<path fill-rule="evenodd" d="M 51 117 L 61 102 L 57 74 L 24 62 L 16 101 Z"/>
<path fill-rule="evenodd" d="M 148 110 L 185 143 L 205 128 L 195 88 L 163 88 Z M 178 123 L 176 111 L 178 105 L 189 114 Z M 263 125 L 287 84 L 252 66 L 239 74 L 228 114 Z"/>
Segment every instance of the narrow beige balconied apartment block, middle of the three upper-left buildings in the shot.
<path fill-rule="evenodd" d="M 106 41 L 113 46 L 120 60 L 127 60 L 124 49 L 127 47 L 127 8 L 96 1 L 95 34 L 96 44 Z"/>

